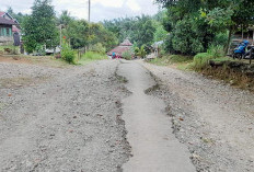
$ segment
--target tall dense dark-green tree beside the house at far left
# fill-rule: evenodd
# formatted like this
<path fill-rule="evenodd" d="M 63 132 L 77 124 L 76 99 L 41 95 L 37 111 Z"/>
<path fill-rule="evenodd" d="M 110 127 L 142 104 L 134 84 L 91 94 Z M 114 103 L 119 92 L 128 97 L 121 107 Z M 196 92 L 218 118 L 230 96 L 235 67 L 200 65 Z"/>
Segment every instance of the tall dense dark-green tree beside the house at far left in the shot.
<path fill-rule="evenodd" d="M 24 20 L 23 41 L 28 53 L 37 46 L 54 47 L 58 44 L 54 7 L 50 0 L 35 0 L 32 14 Z"/>

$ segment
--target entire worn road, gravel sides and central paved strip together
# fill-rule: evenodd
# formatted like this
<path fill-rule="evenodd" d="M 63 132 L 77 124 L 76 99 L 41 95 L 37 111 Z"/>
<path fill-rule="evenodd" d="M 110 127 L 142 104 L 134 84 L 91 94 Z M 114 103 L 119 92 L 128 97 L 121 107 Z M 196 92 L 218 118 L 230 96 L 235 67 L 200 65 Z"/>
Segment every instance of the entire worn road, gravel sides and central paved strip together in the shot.
<path fill-rule="evenodd" d="M 252 93 L 142 61 L 0 73 L 0 171 L 254 169 Z"/>

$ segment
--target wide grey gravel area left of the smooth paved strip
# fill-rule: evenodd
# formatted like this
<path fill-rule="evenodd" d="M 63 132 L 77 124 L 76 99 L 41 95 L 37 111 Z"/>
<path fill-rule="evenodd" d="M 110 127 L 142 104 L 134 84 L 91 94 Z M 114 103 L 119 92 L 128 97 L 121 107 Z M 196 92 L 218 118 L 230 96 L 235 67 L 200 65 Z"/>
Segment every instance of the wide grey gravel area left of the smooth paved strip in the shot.
<path fill-rule="evenodd" d="M 0 171 L 120 171 L 129 146 L 117 61 L 0 62 Z"/>

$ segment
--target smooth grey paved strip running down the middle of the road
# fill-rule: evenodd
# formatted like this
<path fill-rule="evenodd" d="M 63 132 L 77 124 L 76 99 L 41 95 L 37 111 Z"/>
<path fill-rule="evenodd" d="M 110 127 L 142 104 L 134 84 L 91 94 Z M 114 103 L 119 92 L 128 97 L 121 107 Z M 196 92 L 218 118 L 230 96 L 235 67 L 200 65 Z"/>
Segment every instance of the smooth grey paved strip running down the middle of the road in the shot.
<path fill-rule="evenodd" d="M 134 156 L 124 164 L 124 172 L 195 171 L 187 147 L 172 133 L 164 102 L 145 93 L 155 84 L 149 71 L 135 61 L 123 60 L 118 74 L 128 80 L 127 89 L 132 92 L 123 101 L 123 119 Z"/>

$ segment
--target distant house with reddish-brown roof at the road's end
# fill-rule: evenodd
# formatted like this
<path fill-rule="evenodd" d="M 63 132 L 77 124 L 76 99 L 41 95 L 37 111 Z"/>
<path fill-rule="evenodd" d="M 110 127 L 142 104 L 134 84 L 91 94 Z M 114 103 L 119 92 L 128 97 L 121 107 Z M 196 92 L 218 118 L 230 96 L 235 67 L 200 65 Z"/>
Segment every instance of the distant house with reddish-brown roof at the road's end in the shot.
<path fill-rule="evenodd" d="M 131 51 L 132 44 L 129 39 L 125 39 L 119 46 L 115 47 L 111 51 L 107 53 L 108 56 L 112 56 L 113 53 L 118 57 L 123 57 L 123 54 L 126 51 Z"/>

